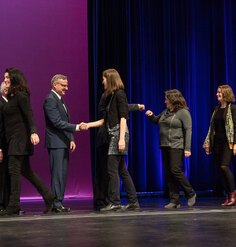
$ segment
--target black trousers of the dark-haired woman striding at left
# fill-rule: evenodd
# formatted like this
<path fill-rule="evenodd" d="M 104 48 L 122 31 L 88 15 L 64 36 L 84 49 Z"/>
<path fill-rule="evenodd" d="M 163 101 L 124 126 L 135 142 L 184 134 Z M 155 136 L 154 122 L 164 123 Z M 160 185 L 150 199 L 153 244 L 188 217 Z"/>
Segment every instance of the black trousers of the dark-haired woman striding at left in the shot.
<path fill-rule="evenodd" d="M 20 209 L 21 174 L 33 184 L 44 199 L 50 193 L 47 186 L 31 169 L 29 156 L 9 156 L 8 169 L 11 180 L 8 207 Z"/>

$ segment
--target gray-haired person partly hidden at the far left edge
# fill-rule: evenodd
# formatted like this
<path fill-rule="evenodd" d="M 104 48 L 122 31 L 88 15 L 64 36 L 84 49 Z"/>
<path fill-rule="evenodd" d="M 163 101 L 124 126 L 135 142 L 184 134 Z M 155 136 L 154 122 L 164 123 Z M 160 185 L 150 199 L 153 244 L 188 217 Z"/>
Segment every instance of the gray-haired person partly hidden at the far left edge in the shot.
<path fill-rule="evenodd" d="M 0 97 L 0 210 L 5 209 L 9 202 L 10 178 L 7 169 L 7 144 L 4 131 L 2 110 L 7 103 L 7 87 L 5 82 L 1 84 Z"/>

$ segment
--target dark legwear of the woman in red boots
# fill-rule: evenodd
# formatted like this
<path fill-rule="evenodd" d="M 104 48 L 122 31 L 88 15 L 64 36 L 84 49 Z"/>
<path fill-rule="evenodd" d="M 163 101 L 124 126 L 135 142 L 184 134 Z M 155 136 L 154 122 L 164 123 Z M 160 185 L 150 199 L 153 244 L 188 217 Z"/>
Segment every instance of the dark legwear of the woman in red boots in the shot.
<path fill-rule="evenodd" d="M 229 149 L 228 143 L 214 143 L 213 147 L 214 161 L 223 175 L 223 182 L 227 193 L 234 192 L 234 176 L 230 169 L 230 162 L 233 152 Z"/>

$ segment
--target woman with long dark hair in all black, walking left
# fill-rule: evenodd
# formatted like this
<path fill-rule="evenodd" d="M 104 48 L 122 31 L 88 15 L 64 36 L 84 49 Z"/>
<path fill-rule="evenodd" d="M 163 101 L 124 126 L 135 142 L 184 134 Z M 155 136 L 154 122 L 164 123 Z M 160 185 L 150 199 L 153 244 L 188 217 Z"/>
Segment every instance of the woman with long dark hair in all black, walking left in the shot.
<path fill-rule="evenodd" d="M 30 92 L 23 73 L 17 68 L 6 69 L 4 82 L 8 86 L 8 102 L 3 109 L 5 137 L 8 147 L 8 170 L 11 180 L 9 204 L 0 215 L 20 212 L 21 174 L 28 179 L 42 195 L 46 210 L 52 207 L 54 194 L 33 172 L 29 158 L 33 146 L 39 143 L 30 104 Z"/>

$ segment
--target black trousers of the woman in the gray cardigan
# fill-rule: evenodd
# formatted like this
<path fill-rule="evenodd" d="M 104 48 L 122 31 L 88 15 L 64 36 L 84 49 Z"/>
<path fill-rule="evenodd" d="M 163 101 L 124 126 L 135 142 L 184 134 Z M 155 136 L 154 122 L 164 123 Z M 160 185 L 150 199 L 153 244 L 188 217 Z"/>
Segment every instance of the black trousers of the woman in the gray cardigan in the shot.
<path fill-rule="evenodd" d="M 161 150 L 170 201 L 179 203 L 179 186 L 183 188 L 186 197 L 191 198 L 195 192 L 181 168 L 184 159 L 184 150 L 168 147 Z"/>

